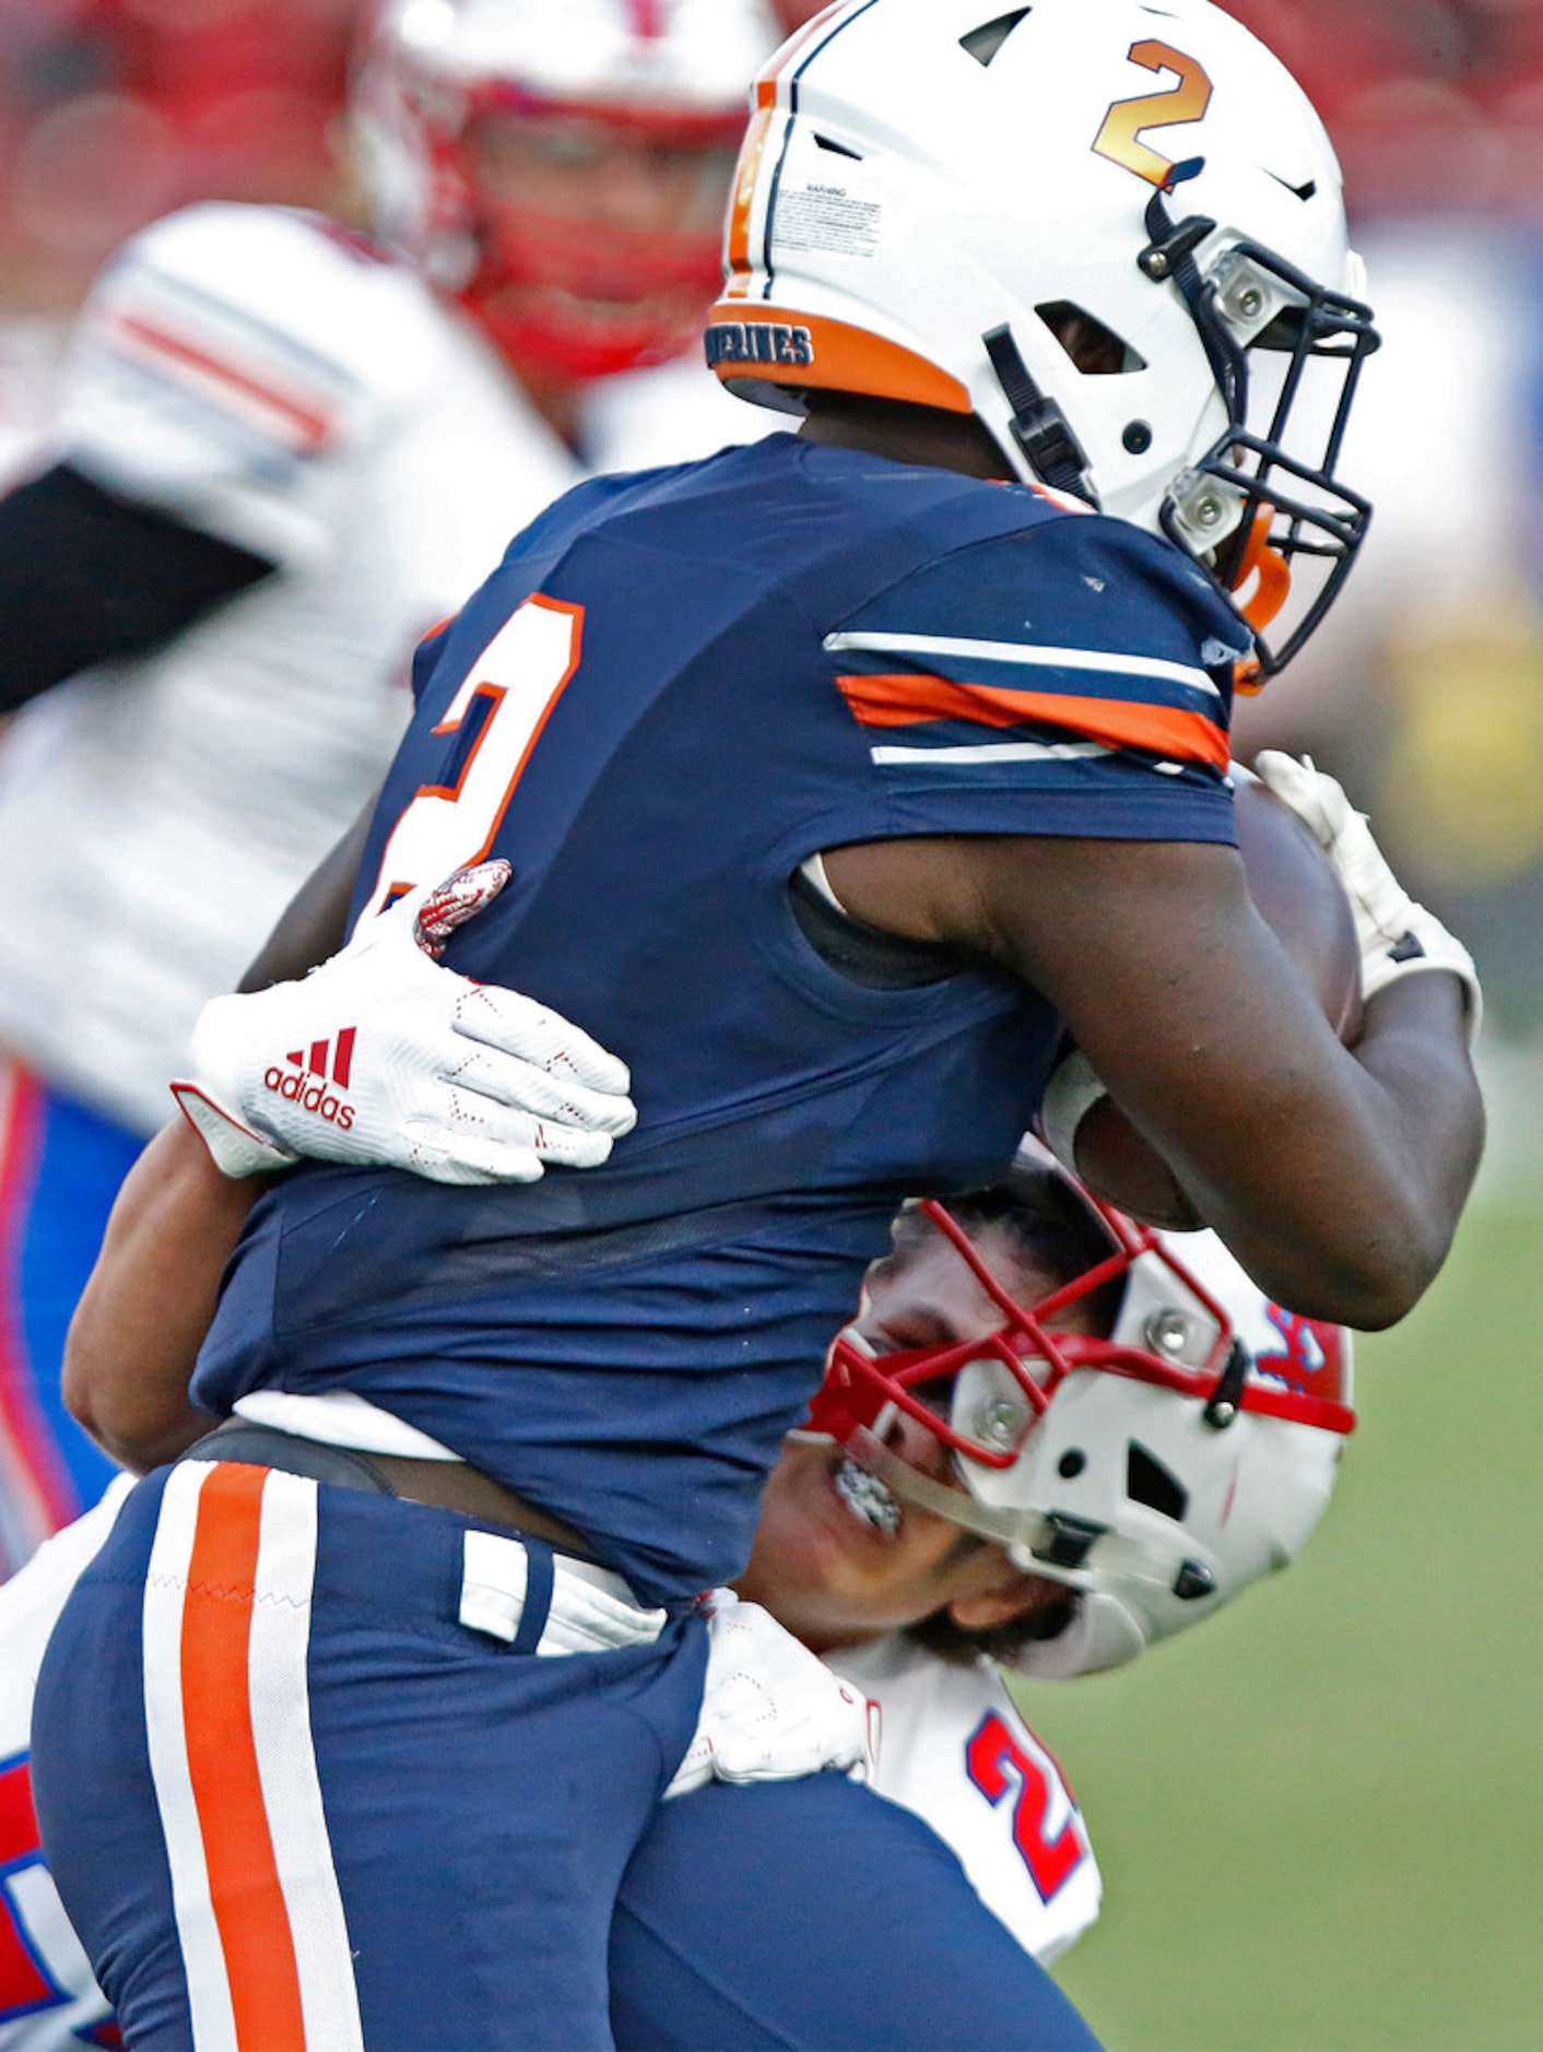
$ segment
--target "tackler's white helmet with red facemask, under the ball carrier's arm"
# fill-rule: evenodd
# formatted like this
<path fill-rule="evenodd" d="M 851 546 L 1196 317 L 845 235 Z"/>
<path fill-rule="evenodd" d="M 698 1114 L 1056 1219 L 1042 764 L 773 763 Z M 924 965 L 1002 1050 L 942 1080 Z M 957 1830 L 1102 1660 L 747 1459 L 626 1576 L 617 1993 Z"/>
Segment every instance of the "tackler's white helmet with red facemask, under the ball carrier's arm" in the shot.
<path fill-rule="evenodd" d="M 1110 1254 L 1034 1305 L 923 1205 L 1001 1330 L 874 1354 L 847 1328 L 810 1414 L 901 1500 L 1077 1590 L 1059 1635 L 1014 1656 L 1044 1679 L 1120 1666 L 1295 1560 L 1354 1428 L 1344 1328 L 1270 1303 L 1215 1233 L 1165 1235 L 1085 1200 Z M 1106 1338 L 1057 1330 L 1110 1285 Z M 897 1412 L 950 1451 L 952 1484 L 891 1449 Z"/>

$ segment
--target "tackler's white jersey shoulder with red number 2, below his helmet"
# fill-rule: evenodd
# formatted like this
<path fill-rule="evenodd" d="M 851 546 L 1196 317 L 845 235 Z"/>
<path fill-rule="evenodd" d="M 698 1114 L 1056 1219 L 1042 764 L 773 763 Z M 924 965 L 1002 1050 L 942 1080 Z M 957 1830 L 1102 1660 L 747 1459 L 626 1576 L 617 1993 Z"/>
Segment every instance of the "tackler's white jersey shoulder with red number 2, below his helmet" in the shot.
<path fill-rule="evenodd" d="M 997 1668 L 899 1633 L 827 1666 L 880 1707 L 878 1793 L 932 1824 L 1024 1951 L 1059 1958 L 1096 1921 L 1102 1880 L 1065 1775 Z"/>

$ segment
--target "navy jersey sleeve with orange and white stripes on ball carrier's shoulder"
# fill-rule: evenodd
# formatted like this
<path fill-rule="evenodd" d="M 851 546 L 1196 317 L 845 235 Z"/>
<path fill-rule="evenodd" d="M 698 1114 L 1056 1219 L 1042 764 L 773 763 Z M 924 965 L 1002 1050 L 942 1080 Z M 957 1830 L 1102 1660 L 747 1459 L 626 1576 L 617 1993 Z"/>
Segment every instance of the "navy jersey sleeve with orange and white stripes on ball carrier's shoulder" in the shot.
<path fill-rule="evenodd" d="M 1178 550 L 1055 515 L 944 554 L 825 636 L 874 827 L 1231 841 L 1248 630 Z"/>

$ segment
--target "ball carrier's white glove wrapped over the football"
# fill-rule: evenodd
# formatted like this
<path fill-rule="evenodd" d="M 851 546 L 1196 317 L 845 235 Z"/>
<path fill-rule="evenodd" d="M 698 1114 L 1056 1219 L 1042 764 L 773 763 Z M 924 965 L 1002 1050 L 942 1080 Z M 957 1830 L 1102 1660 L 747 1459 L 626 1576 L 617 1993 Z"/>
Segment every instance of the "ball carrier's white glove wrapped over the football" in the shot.
<path fill-rule="evenodd" d="M 1367 815 L 1354 811 L 1340 784 L 1317 770 L 1311 755 L 1297 761 L 1278 749 L 1264 749 L 1254 770 L 1315 835 L 1344 884 L 1360 940 L 1360 995 L 1375 997 L 1422 969 L 1447 969 L 1467 993 L 1471 1042 L 1483 1012 L 1473 956 L 1432 911 L 1414 903 L 1371 837 Z"/>

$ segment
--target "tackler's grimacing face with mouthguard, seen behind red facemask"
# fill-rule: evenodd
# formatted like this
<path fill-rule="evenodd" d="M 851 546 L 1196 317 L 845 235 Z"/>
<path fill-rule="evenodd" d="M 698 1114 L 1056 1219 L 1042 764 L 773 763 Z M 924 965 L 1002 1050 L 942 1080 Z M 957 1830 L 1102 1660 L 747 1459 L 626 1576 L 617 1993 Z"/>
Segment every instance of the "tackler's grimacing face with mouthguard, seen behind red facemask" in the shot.
<path fill-rule="evenodd" d="M 987 1227 L 975 1237 L 991 1272 L 1020 1299 L 1051 1289 L 1014 1256 L 1005 1233 Z M 954 1248 L 921 1225 L 870 1272 L 858 1326 L 884 1354 L 985 1338 L 1001 1313 Z M 901 1418 L 888 1445 L 934 1479 L 952 1482 L 948 1453 L 925 1426 Z M 942 1609 L 981 1629 L 1063 1601 L 1063 1590 L 1020 1574 L 999 1545 L 897 1502 L 837 1447 L 804 1441 L 790 1441 L 772 1473 L 739 1590 L 817 1652 L 858 1646 Z"/>

